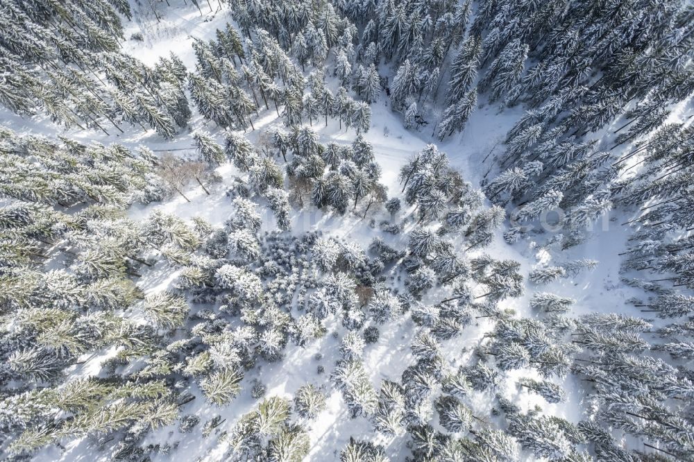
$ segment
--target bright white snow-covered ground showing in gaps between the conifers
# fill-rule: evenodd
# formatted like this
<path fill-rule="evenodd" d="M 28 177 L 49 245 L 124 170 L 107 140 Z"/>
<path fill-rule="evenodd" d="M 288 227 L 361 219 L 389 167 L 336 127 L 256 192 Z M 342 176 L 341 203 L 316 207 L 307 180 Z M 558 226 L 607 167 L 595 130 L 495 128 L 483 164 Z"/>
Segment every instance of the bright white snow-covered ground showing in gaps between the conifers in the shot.
<path fill-rule="evenodd" d="M 126 40 L 122 51 L 142 60 L 146 65 L 154 65 L 160 57 L 174 52 L 189 70 L 194 69 L 196 57 L 191 46 L 192 37 L 202 40 L 213 39 L 217 28 L 223 28 L 227 22 L 232 22 L 226 6 L 219 9 L 215 4 L 216 0 L 211 1 L 212 8 L 216 10 L 214 13 L 209 12 L 205 2 L 200 2 L 203 15 L 193 6 L 178 5 L 177 2 L 176 5 L 170 7 L 158 8 L 158 18 L 154 16 L 147 1 L 131 2 L 133 4 L 133 20 L 124 24 L 124 35 L 128 39 L 131 35 L 139 33 L 142 35 L 142 40 Z M 307 65 L 305 74 L 312 70 L 312 67 Z M 393 75 L 395 69 L 390 69 L 389 65 L 382 65 L 380 71 L 382 71 L 382 75 Z M 329 70 L 325 71 L 325 75 L 328 80 L 328 87 L 333 90 L 337 89 L 339 84 L 335 78 L 330 76 Z M 389 198 L 402 198 L 404 196 L 403 183 L 398 178 L 400 168 L 428 144 L 436 144 L 439 151 L 446 153 L 451 166 L 459 170 L 462 178 L 470 182 L 475 188 L 489 182 L 500 171 L 495 161 L 504 153 L 503 140 L 507 132 L 525 113 L 523 105 L 501 108 L 498 103 L 489 103 L 486 96 L 480 96 L 477 110 L 473 112 L 466 123 L 464 131 L 440 141 L 433 136 L 432 130 L 434 123 L 437 122 L 437 115 L 440 114 L 437 111 L 443 105 L 445 91 L 446 89 L 442 85 L 439 89 L 437 102 L 424 106 L 427 109 L 423 112 L 423 117 L 428 125 L 418 128 L 405 128 L 403 114 L 400 111 L 392 110 L 391 101 L 385 92 L 381 92 L 378 100 L 371 103 L 371 126 L 368 132 L 363 135 L 364 139 L 373 146 L 375 161 L 382 167 L 380 182 L 387 188 Z M 47 137 L 68 136 L 85 144 L 91 142 L 119 143 L 130 149 L 146 146 L 158 155 L 169 152 L 178 157 L 194 159 L 196 157 L 196 148 L 192 139 L 194 132 L 207 130 L 219 144 L 223 145 L 226 135 L 232 130 L 220 129 L 213 122 L 205 120 L 196 110 L 193 111 L 189 128 L 181 130 L 171 140 L 162 139 L 155 130 L 150 129 L 144 132 L 137 126 L 125 129 L 124 125 L 124 133 L 112 131 L 109 136 L 106 136 L 92 130 L 62 130 L 41 116 L 18 117 L 7 110 L 3 110 L 1 119 L 3 126 L 11 128 L 17 134 L 46 135 Z M 677 107 L 672 108 L 668 122 L 691 123 L 692 119 L 688 119 L 688 117 L 692 111 L 691 98 L 686 99 Z M 592 137 L 600 140 L 596 151 L 607 150 L 611 146 L 613 142 L 611 132 L 619 124 L 620 122 L 616 121 L 612 126 L 604 126 L 593 133 Z M 303 125 L 305 126 L 307 123 L 304 122 Z M 270 105 L 269 109 L 262 107 L 259 116 L 253 117 L 253 126 L 253 130 L 249 128 L 234 132 L 246 137 L 252 144 L 258 144 L 260 142 L 259 137 L 263 136 L 263 133 L 282 127 L 283 121 L 278 117 L 275 108 Z M 328 119 L 326 124 L 322 117 L 319 117 L 311 126 L 319 135 L 319 142 L 323 144 L 329 142 L 350 144 L 357 135 L 354 128 L 345 128 L 344 126 L 340 128 L 339 121 L 333 118 Z M 613 150 L 613 155 L 619 157 L 629 153 L 633 146 L 631 143 L 625 143 Z M 275 160 L 282 166 L 282 156 L 276 155 Z M 634 157 L 626 164 L 628 166 L 634 165 L 634 169 L 631 169 L 627 175 L 638 174 L 640 171 L 637 164 L 638 160 L 638 157 Z M 153 211 L 160 210 L 175 214 L 185 220 L 201 217 L 214 226 L 223 226 L 233 212 L 232 200 L 227 191 L 233 187 L 235 177 L 244 178 L 244 173 L 228 162 L 217 167 L 216 172 L 219 174 L 220 180 L 207 185 L 209 195 L 196 182 L 190 182 L 183 191 L 187 199 L 175 195 L 160 203 L 133 205 L 128 209 L 128 216 L 135 220 L 142 220 Z M 486 206 L 491 206 L 491 203 L 487 201 Z M 366 212 L 365 207 L 365 203 L 359 203 L 355 209 L 350 206 L 346 214 L 339 215 L 330 209 L 321 211 L 310 204 L 307 204 L 303 209 L 298 209 L 296 204 L 293 204 L 290 216 L 291 234 L 300 236 L 305 232 L 319 231 L 323 237 L 355 241 L 364 250 L 368 248 L 374 237 L 380 237 L 393 248 L 404 249 L 410 237 L 409 233 L 421 224 L 418 223 L 416 207 L 407 205 L 404 200 L 403 209 L 394 218 L 382 207 L 370 211 L 366 214 L 366 218 L 362 218 Z M 260 232 L 275 230 L 276 221 L 272 212 L 266 207 L 261 207 L 259 211 L 262 216 Z M 620 278 L 625 276 L 620 273 L 622 261 L 620 253 L 623 253 L 627 248 L 627 239 L 632 234 L 632 230 L 628 226 L 621 224 L 633 219 L 635 213 L 636 209 L 609 210 L 591 224 L 592 229 L 584 243 L 567 250 L 560 248 L 557 235 L 564 230 L 561 229 L 561 225 L 556 225 L 552 214 L 548 215 L 547 219 L 542 220 L 541 223 L 534 222 L 532 224 L 533 229 L 512 245 L 505 242 L 502 237 L 503 232 L 512 225 L 507 220 L 500 230 L 496 230 L 489 246 L 475 248 L 464 254 L 468 259 L 487 254 L 497 260 L 512 259 L 520 262 L 520 273 L 525 278 L 525 291 L 520 297 L 500 301 L 498 306 L 500 311 L 512 310 L 514 316 L 518 318 L 541 319 L 544 316 L 530 307 L 530 298 L 534 293 L 540 291 L 575 299 L 575 305 L 570 311 L 570 316 L 575 318 L 592 313 L 639 316 L 640 314 L 636 312 L 638 309 L 625 302 L 631 298 L 643 298 L 643 291 L 629 287 L 620 281 Z M 511 211 L 512 215 L 513 212 Z M 403 223 L 403 232 L 392 235 L 379 230 L 378 223 L 390 220 Z M 438 225 L 433 223 L 421 225 L 430 230 L 438 228 Z M 464 239 L 453 235 L 452 240 L 455 249 L 458 252 L 463 252 L 466 248 Z M 541 286 L 533 284 L 527 279 L 529 273 L 536 268 L 561 266 L 579 259 L 595 260 L 598 264 L 591 271 L 580 271 L 576 275 L 561 277 Z M 142 277 L 137 281 L 137 285 L 144 293 L 158 293 L 164 289 L 171 289 L 179 272 L 180 268 L 172 268 L 162 259 L 152 268 L 142 268 Z M 391 287 L 402 291 L 406 290 L 405 277 L 396 271 L 396 268 L 393 268 L 389 277 Z M 483 292 L 482 287 L 473 286 L 473 295 L 481 296 Z M 425 294 L 423 302 L 435 304 L 439 300 L 449 297 L 450 294 L 450 287 L 434 286 Z M 194 314 L 196 310 L 212 308 L 211 305 L 205 304 L 190 306 L 191 314 Z M 296 308 L 292 313 L 293 316 L 300 316 L 301 314 L 301 311 Z M 142 313 L 137 309 L 126 311 L 124 316 L 130 316 L 134 320 L 142 319 Z M 370 325 L 369 322 L 367 321 L 367 326 Z M 664 321 L 662 320 L 654 321 L 655 327 L 663 324 Z M 455 368 L 475 363 L 475 350 L 490 341 L 489 334 L 493 332 L 494 325 L 494 320 L 484 316 L 473 319 L 471 325 L 466 326 L 461 335 L 441 341 L 444 359 Z M 211 406 L 205 400 L 203 393 L 196 387 L 192 387 L 190 391 L 196 395 L 196 399 L 185 404 L 185 408 L 181 411 L 198 416 L 201 422 L 219 415 L 222 419 L 221 425 L 214 430 L 212 436 L 207 438 L 202 438 L 199 431 L 181 433 L 176 429 L 176 425 L 153 429 L 144 438 L 144 444 L 176 443 L 177 448 L 172 454 L 153 455 L 152 460 L 226 460 L 230 447 L 228 440 L 219 438 L 219 435 L 225 431 L 231 432 L 239 418 L 257 407 L 257 400 L 251 397 L 251 388 L 253 388 L 256 380 L 266 386 L 266 396 L 280 396 L 291 400 L 297 389 L 307 383 L 321 388 L 328 396 L 325 409 L 313 420 L 305 420 L 304 422 L 309 429 L 310 437 L 310 451 L 305 460 L 320 462 L 337 460 L 340 450 L 349 443 L 350 438 L 370 440 L 373 443 L 383 445 L 385 453 L 391 461 L 405 460 L 405 457 L 411 453 L 411 448 L 407 445 L 409 434 L 403 433 L 395 437 L 375 434 L 369 418 L 350 418 L 348 407 L 341 392 L 332 386 L 330 381 L 330 373 L 341 357 L 339 348 L 341 339 L 349 331 L 341 325 L 340 319 L 335 316 L 328 319 L 325 328 L 327 330 L 325 336 L 307 343 L 303 347 L 290 342 L 281 361 L 258 361 L 251 370 L 245 373 L 241 384 L 242 392 L 230 404 L 223 407 Z M 363 357 L 371 384 L 377 391 L 382 380 L 398 382 L 403 370 L 416 363 L 410 345 L 417 334 L 428 331 L 428 328 L 416 325 L 410 316 L 405 315 L 379 327 L 379 330 L 378 341 L 366 345 Z M 68 379 L 103 375 L 101 364 L 113 357 L 115 353 L 115 348 L 105 348 L 94 354 L 84 355 L 80 358 L 80 363 L 68 369 Z M 581 357 L 581 354 L 578 354 L 578 357 Z M 663 352 L 662 357 L 666 358 L 667 354 Z M 319 373 L 319 366 L 324 368 L 323 373 Z M 123 370 L 121 373 L 126 372 L 127 370 Z M 566 400 L 556 404 L 549 404 L 541 396 L 528 393 L 525 388 L 518 387 L 516 382 L 521 377 L 541 378 L 532 368 L 506 371 L 503 373 L 502 382 L 497 389 L 499 395 L 506 397 L 523 411 L 540 406 L 543 414 L 559 416 L 573 423 L 586 418 L 586 411 L 590 404 L 586 400 L 586 389 L 576 375 L 569 374 L 564 378 L 552 379 L 566 391 Z M 473 415 L 482 416 L 479 422 L 481 426 L 503 427 L 503 418 L 499 416 L 496 409 L 493 410 L 496 406 L 494 404 L 496 398 L 496 395 L 486 391 L 475 392 L 466 400 L 466 405 L 470 407 Z M 441 429 L 435 418 L 432 419 L 432 425 Z M 632 450 L 646 449 L 643 446 L 643 441 L 627 437 L 625 442 Z M 94 440 L 85 436 L 65 443 L 64 447 L 49 445 L 35 454 L 35 459 L 40 461 L 105 461 L 110 460 L 110 455 L 108 452 L 96 450 Z M 524 451 L 521 460 L 544 459 L 535 456 L 532 452 Z"/>

